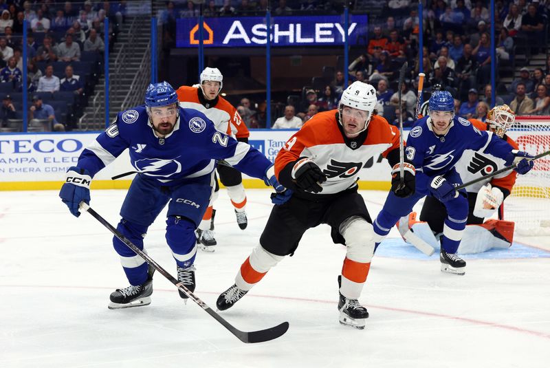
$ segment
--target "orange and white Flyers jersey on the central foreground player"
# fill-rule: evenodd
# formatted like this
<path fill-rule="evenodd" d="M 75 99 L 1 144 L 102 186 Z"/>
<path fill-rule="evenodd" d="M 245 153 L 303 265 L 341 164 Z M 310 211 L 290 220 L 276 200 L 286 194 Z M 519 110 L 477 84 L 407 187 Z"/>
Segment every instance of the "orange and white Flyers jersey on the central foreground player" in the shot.
<path fill-rule="evenodd" d="M 399 149 L 397 127 L 389 125 L 386 119 L 376 115 L 371 118 L 364 142 L 349 140 L 348 146 L 339 129 L 337 111 L 317 113 L 286 142 L 275 159 L 275 175 L 278 178 L 288 164 L 294 163 L 298 158 L 307 157 L 327 175 L 327 181 L 321 184 L 323 189 L 320 194 L 339 193 L 355 186 L 360 169 L 371 158 L 377 160 L 380 153 L 386 157 L 388 152 Z M 287 182 L 288 178 L 285 179 Z M 373 177 L 369 179 L 375 180 Z M 388 177 L 379 179 L 388 180 Z M 283 183 L 280 178 L 279 182 Z"/>

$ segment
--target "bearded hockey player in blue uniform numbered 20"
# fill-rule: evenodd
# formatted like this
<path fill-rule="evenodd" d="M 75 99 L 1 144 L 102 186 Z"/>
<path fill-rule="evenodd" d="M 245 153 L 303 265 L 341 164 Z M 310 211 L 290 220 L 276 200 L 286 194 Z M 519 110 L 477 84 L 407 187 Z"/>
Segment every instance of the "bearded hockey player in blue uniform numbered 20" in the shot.
<path fill-rule="evenodd" d="M 276 191 L 278 184 L 272 162 L 250 147 L 217 131 L 211 120 L 194 109 L 178 105 L 176 91 L 166 82 L 149 85 L 145 105 L 133 107 L 113 124 L 67 171 L 59 193 L 73 215 L 80 215 L 80 202 L 89 204 L 91 178 L 129 149 L 135 176 L 120 215 L 118 231 L 143 249 L 143 237 L 160 211 L 168 204 L 166 242 L 177 263 L 177 279 L 195 290 L 195 229 L 213 192 L 216 160 L 225 160 L 239 171 L 263 178 Z M 130 283 L 111 294 L 110 309 L 151 303 L 152 272 L 145 261 L 120 241 L 113 245 Z M 187 298 L 185 294 L 180 296 Z"/>

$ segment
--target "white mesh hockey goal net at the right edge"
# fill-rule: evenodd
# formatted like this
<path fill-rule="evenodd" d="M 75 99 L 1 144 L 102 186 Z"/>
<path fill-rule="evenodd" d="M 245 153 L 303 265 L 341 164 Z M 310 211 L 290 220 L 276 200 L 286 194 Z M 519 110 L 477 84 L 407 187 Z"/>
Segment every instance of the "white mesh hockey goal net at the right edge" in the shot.
<path fill-rule="evenodd" d="M 518 116 L 507 134 L 531 155 L 550 151 L 550 116 Z M 516 223 L 520 235 L 550 234 L 550 155 L 536 160 L 526 175 L 518 175 L 505 200 L 504 216 Z"/>

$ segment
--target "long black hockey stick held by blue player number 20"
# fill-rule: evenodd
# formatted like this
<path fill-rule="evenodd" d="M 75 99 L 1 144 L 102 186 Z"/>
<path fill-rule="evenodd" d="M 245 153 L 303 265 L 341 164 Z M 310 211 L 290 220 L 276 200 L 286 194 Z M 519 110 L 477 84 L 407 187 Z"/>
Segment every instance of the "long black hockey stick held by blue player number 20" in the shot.
<path fill-rule="evenodd" d="M 210 316 L 214 317 L 216 321 L 221 323 L 223 327 L 228 329 L 229 332 L 234 334 L 234 336 L 239 338 L 239 340 L 241 340 L 243 343 L 263 343 L 264 341 L 269 341 L 269 340 L 273 340 L 274 338 L 281 337 L 283 336 L 283 334 L 285 334 L 285 332 L 287 332 L 287 329 L 289 327 L 288 322 L 283 322 L 281 323 L 281 325 L 277 325 L 275 327 L 271 327 L 268 329 L 262 329 L 261 331 L 245 332 L 245 331 L 236 329 L 228 321 L 225 321 L 225 319 L 223 319 L 219 314 L 217 314 L 212 309 L 210 309 L 210 307 L 208 307 L 208 305 L 206 305 L 203 301 L 201 301 L 201 299 L 199 299 L 195 294 L 193 294 L 191 290 L 186 288 L 183 283 L 174 279 L 174 277 L 172 277 L 171 274 L 169 274 L 166 270 L 164 270 L 164 268 L 159 266 L 157 262 L 155 262 L 151 257 L 149 257 L 146 254 L 146 252 L 144 252 L 140 248 L 137 248 L 137 246 L 135 246 L 134 243 L 129 241 L 129 239 L 124 237 L 124 235 L 122 235 L 118 230 L 113 228 L 113 226 L 109 224 L 109 222 L 106 219 L 104 219 L 98 213 L 96 213 L 96 211 L 94 211 L 89 205 L 85 204 L 84 202 L 80 202 L 80 209 L 86 210 L 96 220 L 100 221 L 100 223 L 103 226 L 109 229 L 109 231 L 112 232 L 113 235 L 115 235 L 115 237 L 118 237 L 118 239 L 120 239 L 122 243 L 126 244 L 128 248 L 133 250 L 135 254 L 142 257 L 149 265 L 151 265 L 153 268 L 155 268 L 155 270 L 160 272 L 162 276 L 166 277 L 168 281 L 176 285 L 177 290 L 184 292 L 187 296 L 189 296 L 189 298 L 192 299 L 192 301 L 197 303 L 203 310 L 205 310 L 208 314 L 210 314 Z"/>

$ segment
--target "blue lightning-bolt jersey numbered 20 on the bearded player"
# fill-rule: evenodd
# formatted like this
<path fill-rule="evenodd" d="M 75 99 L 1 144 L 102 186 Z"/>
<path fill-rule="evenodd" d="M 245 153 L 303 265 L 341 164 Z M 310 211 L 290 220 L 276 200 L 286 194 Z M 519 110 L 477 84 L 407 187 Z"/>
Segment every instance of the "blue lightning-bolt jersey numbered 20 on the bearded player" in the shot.
<path fill-rule="evenodd" d="M 93 177 L 129 149 L 137 173 L 173 186 L 186 180 L 210 175 L 216 161 L 225 160 L 252 177 L 265 177 L 270 160 L 249 144 L 237 142 L 217 131 L 203 113 L 179 107 L 172 133 L 159 138 L 153 132 L 145 105 L 133 107 L 118 116 L 78 158 L 78 166 Z"/>

